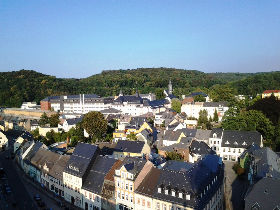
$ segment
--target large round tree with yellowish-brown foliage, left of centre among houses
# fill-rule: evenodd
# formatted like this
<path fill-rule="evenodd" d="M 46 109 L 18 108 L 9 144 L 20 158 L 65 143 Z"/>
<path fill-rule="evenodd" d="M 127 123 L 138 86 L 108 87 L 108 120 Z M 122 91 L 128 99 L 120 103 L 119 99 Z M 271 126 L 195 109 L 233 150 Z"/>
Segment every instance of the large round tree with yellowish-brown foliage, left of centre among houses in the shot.
<path fill-rule="evenodd" d="M 83 128 L 92 137 L 101 138 L 108 130 L 108 123 L 102 113 L 91 111 L 83 117 Z"/>

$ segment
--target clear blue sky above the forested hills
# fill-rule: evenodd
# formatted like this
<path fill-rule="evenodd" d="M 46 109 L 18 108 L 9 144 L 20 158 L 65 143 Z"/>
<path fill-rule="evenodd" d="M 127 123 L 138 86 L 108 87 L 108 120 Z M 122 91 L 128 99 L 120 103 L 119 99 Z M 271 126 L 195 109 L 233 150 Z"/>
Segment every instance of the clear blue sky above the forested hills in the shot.
<path fill-rule="evenodd" d="M 0 1 L 0 71 L 280 71 L 280 1 Z"/>

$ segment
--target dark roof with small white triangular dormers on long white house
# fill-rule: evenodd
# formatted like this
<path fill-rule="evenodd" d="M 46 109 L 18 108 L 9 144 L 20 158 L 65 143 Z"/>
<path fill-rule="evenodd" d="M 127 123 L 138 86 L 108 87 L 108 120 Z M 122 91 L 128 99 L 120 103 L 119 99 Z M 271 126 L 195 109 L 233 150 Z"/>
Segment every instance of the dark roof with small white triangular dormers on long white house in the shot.
<path fill-rule="evenodd" d="M 212 135 L 210 137 L 212 137 Z M 247 149 L 249 145 L 252 145 L 253 143 L 256 143 L 260 147 L 261 138 L 262 134 L 258 131 L 224 130 L 221 147 Z"/>

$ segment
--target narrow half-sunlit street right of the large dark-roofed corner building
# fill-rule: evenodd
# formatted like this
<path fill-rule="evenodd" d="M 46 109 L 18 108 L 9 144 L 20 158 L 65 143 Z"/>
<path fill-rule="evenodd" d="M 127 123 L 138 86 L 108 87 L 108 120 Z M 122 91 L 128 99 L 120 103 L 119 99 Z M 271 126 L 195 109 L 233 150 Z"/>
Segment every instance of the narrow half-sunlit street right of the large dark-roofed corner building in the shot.
<path fill-rule="evenodd" d="M 249 188 L 248 174 L 238 176 L 232 169 L 235 164 L 233 161 L 224 161 L 225 163 L 225 210 L 242 210 L 242 200 Z"/>

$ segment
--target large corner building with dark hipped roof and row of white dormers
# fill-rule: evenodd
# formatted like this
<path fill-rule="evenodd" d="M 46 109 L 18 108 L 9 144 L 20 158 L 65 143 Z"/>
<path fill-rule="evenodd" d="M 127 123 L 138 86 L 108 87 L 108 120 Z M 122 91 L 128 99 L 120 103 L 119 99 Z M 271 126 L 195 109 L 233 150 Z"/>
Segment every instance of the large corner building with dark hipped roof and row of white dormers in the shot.
<path fill-rule="evenodd" d="M 225 171 L 219 156 L 207 154 L 195 165 L 186 162 L 179 165 L 178 161 L 169 160 L 152 194 L 153 209 L 220 209 L 224 183 Z"/>

